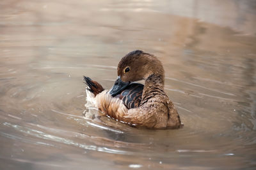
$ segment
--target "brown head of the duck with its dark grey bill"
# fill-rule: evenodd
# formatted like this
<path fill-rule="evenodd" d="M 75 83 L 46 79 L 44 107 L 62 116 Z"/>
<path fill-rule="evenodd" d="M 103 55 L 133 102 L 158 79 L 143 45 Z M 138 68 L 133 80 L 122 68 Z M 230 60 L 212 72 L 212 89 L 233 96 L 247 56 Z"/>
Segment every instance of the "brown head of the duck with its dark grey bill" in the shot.
<path fill-rule="evenodd" d="M 117 74 L 115 84 L 109 92 L 113 97 L 120 94 L 133 81 L 145 80 L 151 74 L 164 76 L 164 69 L 161 62 L 154 55 L 135 50 L 120 60 Z"/>

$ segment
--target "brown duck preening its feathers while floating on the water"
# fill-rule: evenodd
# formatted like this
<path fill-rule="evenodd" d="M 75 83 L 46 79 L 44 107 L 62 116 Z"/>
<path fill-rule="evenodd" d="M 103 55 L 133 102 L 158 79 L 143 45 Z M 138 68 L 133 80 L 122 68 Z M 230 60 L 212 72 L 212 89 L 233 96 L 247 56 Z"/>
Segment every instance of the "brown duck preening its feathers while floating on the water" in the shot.
<path fill-rule="evenodd" d="M 88 99 L 100 111 L 128 124 L 154 128 L 180 127 L 180 117 L 164 92 L 164 69 L 149 53 L 136 50 L 123 57 L 117 68 L 118 78 L 110 92 L 88 77 Z M 145 85 L 131 83 L 145 80 Z"/>

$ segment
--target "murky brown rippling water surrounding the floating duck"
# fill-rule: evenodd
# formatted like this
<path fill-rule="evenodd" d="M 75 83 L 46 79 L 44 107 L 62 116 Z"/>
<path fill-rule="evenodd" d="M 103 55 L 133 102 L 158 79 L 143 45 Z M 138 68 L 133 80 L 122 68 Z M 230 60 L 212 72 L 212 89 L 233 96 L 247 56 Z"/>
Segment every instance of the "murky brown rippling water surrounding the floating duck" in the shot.
<path fill-rule="evenodd" d="M 254 169 L 255 1 L 0 1 L 0 169 Z M 164 64 L 184 128 L 84 119 L 126 53 Z M 90 111 L 97 113 L 96 110 Z"/>

